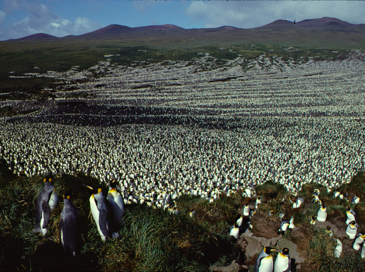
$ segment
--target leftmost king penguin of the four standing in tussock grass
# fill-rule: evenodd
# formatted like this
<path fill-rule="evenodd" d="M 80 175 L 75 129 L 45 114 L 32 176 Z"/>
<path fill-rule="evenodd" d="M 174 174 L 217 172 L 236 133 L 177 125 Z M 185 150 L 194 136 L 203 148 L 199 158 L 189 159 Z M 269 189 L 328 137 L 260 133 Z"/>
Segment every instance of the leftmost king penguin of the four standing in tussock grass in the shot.
<path fill-rule="evenodd" d="M 44 188 L 38 195 L 36 203 L 36 226 L 34 233 L 40 232 L 43 236 L 48 232 L 48 221 L 51 210 L 54 209 L 58 202 L 57 190 L 52 183 L 52 174 L 44 178 Z"/>

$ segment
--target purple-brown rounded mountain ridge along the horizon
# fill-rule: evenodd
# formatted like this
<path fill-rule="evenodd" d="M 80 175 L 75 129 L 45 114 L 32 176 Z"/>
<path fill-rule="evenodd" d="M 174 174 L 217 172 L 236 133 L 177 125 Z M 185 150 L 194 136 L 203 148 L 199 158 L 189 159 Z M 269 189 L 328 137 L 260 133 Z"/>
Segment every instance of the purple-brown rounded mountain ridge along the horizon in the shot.
<path fill-rule="evenodd" d="M 38 33 L 33 34 L 27 37 L 23 37 L 16 40 L 33 40 L 33 39 L 79 39 L 79 38 L 85 38 L 85 39 L 102 39 L 102 38 L 114 38 L 118 35 L 126 34 L 128 38 L 130 39 L 141 39 L 143 38 L 141 35 L 144 35 L 146 37 L 155 37 L 159 34 L 161 35 L 173 35 L 173 36 L 186 36 L 186 35 L 204 35 L 208 32 L 237 32 L 237 31 L 265 31 L 265 30 L 273 30 L 273 31 L 332 31 L 332 32 L 356 32 L 365 30 L 365 24 L 359 24 L 354 25 L 350 24 L 344 21 L 341 21 L 336 18 L 329 18 L 329 17 L 323 17 L 319 19 L 307 19 L 300 22 L 294 22 L 288 21 L 288 20 L 276 20 L 270 24 L 252 28 L 252 29 L 241 29 L 231 26 L 222 26 L 219 28 L 210 28 L 210 29 L 184 29 L 180 28 L 178 26 L 166 24 L 166 25 L 156 25 L 156 26 L 145 26 L 145 27 L 134 27 L 130 28 L 127 26 L 121 26 L 121 25 L 109 25 L 107 27 L 98 29 L 96 31 L 74 36 L 69 35 L 63 38 L 57 38 L 52 35 L 44 34 L 44 33 Z M 237 35 L 237 33 L 235 33 Z"/>

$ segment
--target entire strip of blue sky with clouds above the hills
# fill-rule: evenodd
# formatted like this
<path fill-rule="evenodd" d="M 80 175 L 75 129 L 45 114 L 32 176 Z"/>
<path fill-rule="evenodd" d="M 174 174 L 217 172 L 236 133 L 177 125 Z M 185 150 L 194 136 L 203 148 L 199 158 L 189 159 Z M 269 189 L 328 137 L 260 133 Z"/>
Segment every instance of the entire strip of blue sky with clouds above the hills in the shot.
<path fill-rule="evenodd" d="M 0 0 L 0 41 L 36 33 L 80 35 L 112 24 L 255 28 L 322 17 L 365 24 L 364 14 L 365 1 Z"/>

